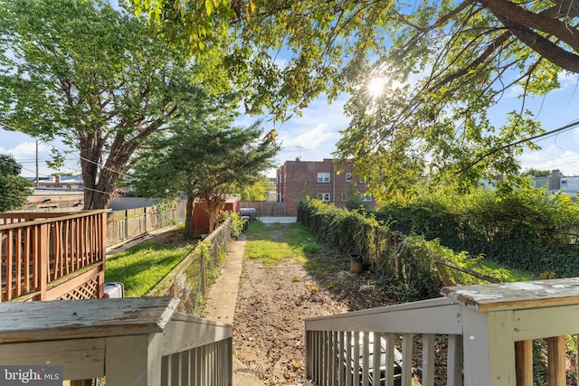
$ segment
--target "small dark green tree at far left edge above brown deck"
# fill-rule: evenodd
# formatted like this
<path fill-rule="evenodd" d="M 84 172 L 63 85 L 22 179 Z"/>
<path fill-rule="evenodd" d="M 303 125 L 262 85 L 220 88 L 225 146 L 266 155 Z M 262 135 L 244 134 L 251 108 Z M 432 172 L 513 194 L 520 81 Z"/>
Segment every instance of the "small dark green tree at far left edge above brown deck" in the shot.
<path fill-rule="evenodd" d="M 22 209 L 32 184 L 21 177 L 22 166 L 12 155 L 0 155 L 0 212 Z"/>

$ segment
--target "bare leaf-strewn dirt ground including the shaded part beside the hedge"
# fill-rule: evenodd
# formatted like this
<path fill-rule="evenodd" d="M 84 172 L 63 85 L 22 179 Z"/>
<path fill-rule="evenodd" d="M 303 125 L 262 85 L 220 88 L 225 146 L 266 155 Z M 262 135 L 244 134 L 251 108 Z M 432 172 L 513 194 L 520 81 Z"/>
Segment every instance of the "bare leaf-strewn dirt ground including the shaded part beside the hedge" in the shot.
<path fill-rule="evenodd" d="M 305 383 L 304 319 L 392 304 L 375 289 L 372 272 L 349 271 L 349 258 L 322 251 L 311 259 L 314 274 L 291 260 L 273 267 L 244 262 L 233 349 L 265 384 Z"/>

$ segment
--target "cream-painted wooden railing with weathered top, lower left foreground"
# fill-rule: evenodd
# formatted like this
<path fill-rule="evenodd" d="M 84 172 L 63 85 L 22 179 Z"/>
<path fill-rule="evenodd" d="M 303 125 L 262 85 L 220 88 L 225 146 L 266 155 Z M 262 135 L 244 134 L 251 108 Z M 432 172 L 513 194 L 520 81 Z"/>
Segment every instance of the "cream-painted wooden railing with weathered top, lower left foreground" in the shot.
<path fill-rule="evenodd" d="M 176 313 L 177 303 L 133 297 L 0 304 L 0 363 L 62 366 L 65 380 L 105 377 L 107 386 L 231 386 L 232 325 Z"/>

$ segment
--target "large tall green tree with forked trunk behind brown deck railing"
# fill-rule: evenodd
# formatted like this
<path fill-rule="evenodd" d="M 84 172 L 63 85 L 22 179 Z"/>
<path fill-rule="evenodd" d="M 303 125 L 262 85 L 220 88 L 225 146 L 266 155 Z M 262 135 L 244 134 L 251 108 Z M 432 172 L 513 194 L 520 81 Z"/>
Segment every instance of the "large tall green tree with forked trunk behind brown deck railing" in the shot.
<path fill-rule="evenodd" d="M 0 122 L 79 150 L 84 209 L 106 208 L 147 137 L 195 103 L 193 72 L 109 3 L 0 0 Z"/>

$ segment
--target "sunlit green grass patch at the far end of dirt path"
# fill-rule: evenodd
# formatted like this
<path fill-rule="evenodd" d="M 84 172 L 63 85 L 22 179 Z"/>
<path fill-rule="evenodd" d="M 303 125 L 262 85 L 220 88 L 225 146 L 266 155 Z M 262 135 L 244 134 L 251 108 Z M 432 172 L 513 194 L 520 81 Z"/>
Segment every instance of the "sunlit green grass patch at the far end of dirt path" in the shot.
<path fill-rule="evenodd" d="M 254 221 L 247 230 L 247 238 L 245 256 L 259 259 L 266 266 L 288 260 L 306 264 L 308 253 L 318 250 L 316 233 L 298 223 L 266 226 L 261 221 Z"/>

